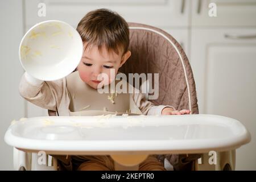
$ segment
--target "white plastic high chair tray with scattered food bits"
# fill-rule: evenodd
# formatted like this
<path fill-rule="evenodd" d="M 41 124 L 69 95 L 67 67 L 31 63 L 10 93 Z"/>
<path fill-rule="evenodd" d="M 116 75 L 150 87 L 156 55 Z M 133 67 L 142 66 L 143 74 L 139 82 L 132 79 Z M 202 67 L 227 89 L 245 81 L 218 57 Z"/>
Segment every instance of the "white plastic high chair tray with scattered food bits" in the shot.
<path fill-rule="evenodd" d="M 57 155 L 193 154 L 233 150 L 250 133 L 220 115 L 36 117 L 13 123 L 5 142 Z"/>

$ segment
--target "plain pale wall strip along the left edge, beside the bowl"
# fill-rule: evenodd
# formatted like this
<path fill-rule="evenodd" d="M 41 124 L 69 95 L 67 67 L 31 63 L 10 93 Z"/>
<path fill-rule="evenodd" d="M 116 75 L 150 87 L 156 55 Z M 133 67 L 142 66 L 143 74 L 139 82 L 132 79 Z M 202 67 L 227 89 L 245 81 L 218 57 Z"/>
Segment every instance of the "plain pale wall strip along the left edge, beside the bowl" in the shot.
<path fill-rule="evenodd" d="M 13 119 L 24 117 L 24 99 L 18 93 L 23 73 L 18 57 L 22 21 L 22 1 L 0 1 L 0 170 L 13 170 L 13 148 L 5 143 L 4 136 Z"/>

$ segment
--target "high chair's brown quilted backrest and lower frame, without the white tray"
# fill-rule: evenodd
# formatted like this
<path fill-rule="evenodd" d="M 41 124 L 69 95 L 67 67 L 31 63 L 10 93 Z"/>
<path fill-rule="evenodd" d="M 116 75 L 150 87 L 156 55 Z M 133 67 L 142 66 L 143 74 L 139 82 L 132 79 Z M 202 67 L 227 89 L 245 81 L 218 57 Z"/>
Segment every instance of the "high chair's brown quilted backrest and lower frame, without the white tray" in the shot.
<path fill-rule="evenodd" d="M 191 110 L 191 114 L 199 114 L 192 69 L 180 44 L 170 34 L 156 27 L 129 23 L 129 28 L 131 57 L 119 71 L 127 76 L 128 73 L 159 73 L 159 97 L 156 100 L 151 100 L 151 102 L 155 105 L 171 105 L 176 110 L 188 109 Z M 56 115 L 56 113 L 49 110 L 49 115 Z M 245 135 L 240 146 L 250 141 L 249 134 L 246 133 Z M 157 157 L 164 163 L 166 169 L 235 169 L 236 147 L 233 147 L 230 151 L 217 151 L 215 155 L 216 164 L 208 163 L 212 156 L 209 153 L 169 154 L 157 155 Z M 57 169 L 56 158 L 51 156 L 47 158 L 49 163 L 53 162 L 53 166 L 47 166 L 47 164 L 39 166 L 36 164 L 37 160 L 38 156 L 36 154 L 23 152 L 14 147 L 15 170 Z"/>

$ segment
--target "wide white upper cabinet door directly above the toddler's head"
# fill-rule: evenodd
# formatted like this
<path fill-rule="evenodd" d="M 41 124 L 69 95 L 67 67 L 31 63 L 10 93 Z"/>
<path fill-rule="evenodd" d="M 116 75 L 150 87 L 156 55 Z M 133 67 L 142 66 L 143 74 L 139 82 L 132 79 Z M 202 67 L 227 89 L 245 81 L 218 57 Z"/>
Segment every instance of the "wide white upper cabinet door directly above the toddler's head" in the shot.
<path fill-rule="evenodd" d="M 46 17 L 38 16 L 38 5 L 46 5 Z M 76 27 L 89 11 L 107 8 L 117 11 L 127 22 L 150 24 L 157 27 L 188 26 L 189 0 L 26 0 L 26 26 L 43 20 L 63 20 Z"/>

